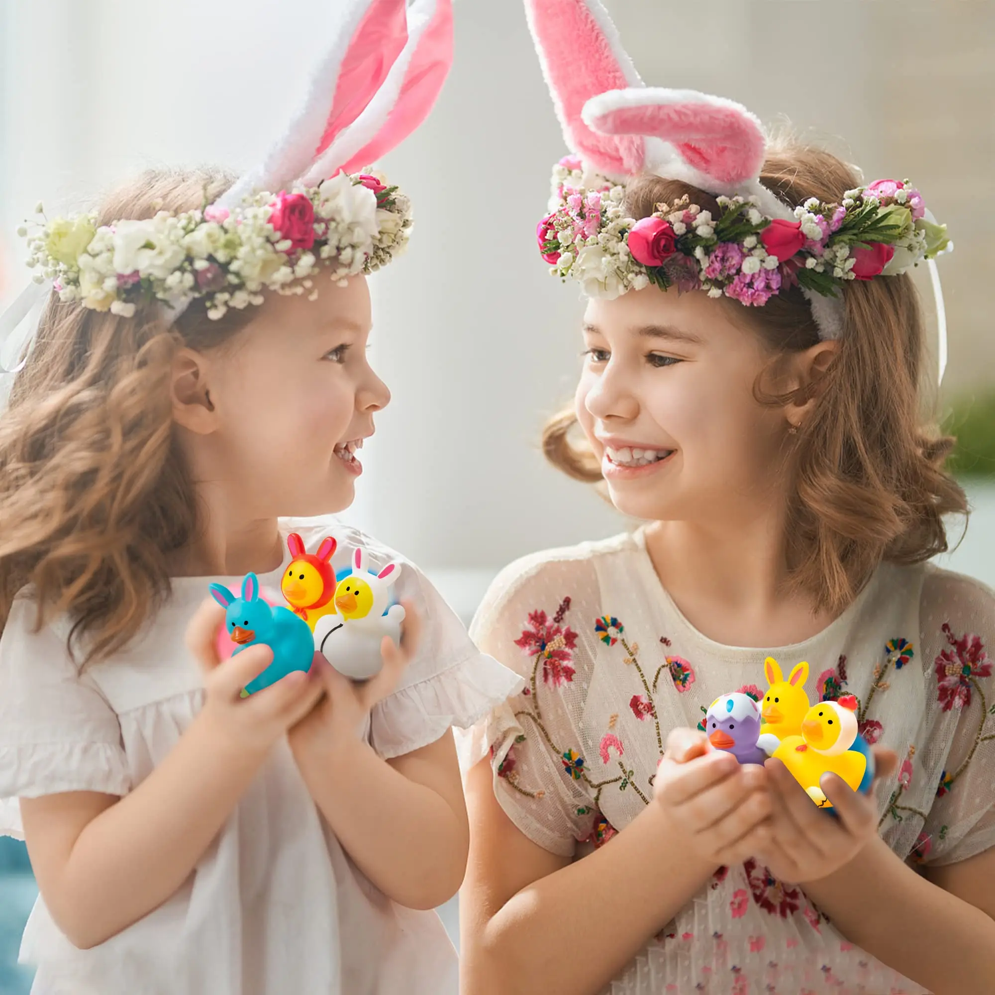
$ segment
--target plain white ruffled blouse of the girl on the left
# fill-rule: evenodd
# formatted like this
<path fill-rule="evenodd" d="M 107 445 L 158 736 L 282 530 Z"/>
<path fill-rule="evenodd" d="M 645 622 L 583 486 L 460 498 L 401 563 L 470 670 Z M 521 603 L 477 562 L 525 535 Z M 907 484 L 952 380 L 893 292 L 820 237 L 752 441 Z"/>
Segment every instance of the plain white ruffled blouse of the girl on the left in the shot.
<path fill-rule="evenodd" d="M 424 575 L 375 539 L 336 519 L 282 523 L 313 552 L 338 539 L 332 563 L 362 544 L 377 567 L 404 562 L 398 598 L 425 620 L 417 657 L 375 706 L 369 740 L 384 758 L 419 749 L 453 725 L 469 726 L 520 681 L 478 652 Z M 260 575 L 280 590 L 290 562 Z M 203 702 L 183 637 L 209 581 L 173 581 L 147 631 L 83 674 L 67 654 L 69 622 L 32 631 L 20 597 L 0 639 L 0 833 L 21 835 L 18 798 L 62 791 L 124 795 L 172 749 Z M 399 812 L 398 831 L 404 832 Z M 150 827 L 154 832 L 154 827 Z M 402 907 L 352 864 L 310 798 L 286 739 L 232 812 L 183 887 L 159 908 L 91 950 L 79 950 L 39 898 L 22 962 L 41 995 L 444 995 L 458 990 L 457 957 L 434 911 Z"/>

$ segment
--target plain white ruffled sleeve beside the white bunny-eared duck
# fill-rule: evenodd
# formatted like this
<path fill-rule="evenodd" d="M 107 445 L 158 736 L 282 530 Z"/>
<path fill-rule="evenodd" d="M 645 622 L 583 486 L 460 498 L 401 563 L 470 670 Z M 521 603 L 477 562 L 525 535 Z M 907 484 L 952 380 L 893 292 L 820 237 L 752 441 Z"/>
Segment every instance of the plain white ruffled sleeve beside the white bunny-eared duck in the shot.
<path fill-rule="evenodd" d="M 366 541 L 378 565 L 399 558 Z M 370 742 L 384 759 L 428 746 L 453 726 L 469 728 L 522 684 L 477 649 L 456 612 L 418 567 L 405 561 L 397 587 L 398 600 L 415 603 L 423 633 L 400 686 L 370 716 Z"/>

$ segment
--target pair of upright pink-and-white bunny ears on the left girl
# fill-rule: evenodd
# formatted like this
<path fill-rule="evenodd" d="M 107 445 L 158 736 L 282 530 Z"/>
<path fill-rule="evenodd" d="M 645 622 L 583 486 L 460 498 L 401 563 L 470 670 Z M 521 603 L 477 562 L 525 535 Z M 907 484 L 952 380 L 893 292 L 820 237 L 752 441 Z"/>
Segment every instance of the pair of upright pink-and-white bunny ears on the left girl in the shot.
<path fill-rule="evenodd" d="M 215 206 L 257 190 L 319 183 L 372 161 L 425 118 L 452 64 L 452 0 L 345 0 L 328 53 L 298 115 L 263 163 Z M 364 162 L 365 164 L 365 162 Z"/>

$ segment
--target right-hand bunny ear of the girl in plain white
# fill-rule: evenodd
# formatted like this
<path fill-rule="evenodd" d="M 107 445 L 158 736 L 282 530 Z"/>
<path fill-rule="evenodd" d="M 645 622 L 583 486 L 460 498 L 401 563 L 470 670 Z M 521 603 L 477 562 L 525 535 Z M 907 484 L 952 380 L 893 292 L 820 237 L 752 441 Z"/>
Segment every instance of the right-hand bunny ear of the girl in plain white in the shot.
<path fill-rule="evenodd" d="M 338 169 L 354 172 L 399 145 L 428 116 L 452 65 L 452 0 L 414 0 L 407 11 L 407 44 L 383 86 L 301 180 L 311 185 Z"/>

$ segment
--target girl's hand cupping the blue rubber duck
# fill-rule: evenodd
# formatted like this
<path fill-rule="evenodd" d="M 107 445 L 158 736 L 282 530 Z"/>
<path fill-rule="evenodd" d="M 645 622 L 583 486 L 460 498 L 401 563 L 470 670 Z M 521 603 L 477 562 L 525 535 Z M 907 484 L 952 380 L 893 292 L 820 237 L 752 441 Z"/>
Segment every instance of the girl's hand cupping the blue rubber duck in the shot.
<path fill-rule="evenodd" d="M 242 689 L 273 662 L 268 646 L 253 646 L 228 660 L 218 656 L 218 629 L 225 610 L 207 598 L 190 620 L 186 644 L 204 671 L 201 715 L 239 748 L 265 752 L 314 707 L 322 688 L 308 674 L 295 671 L 249 697 Z"/>

